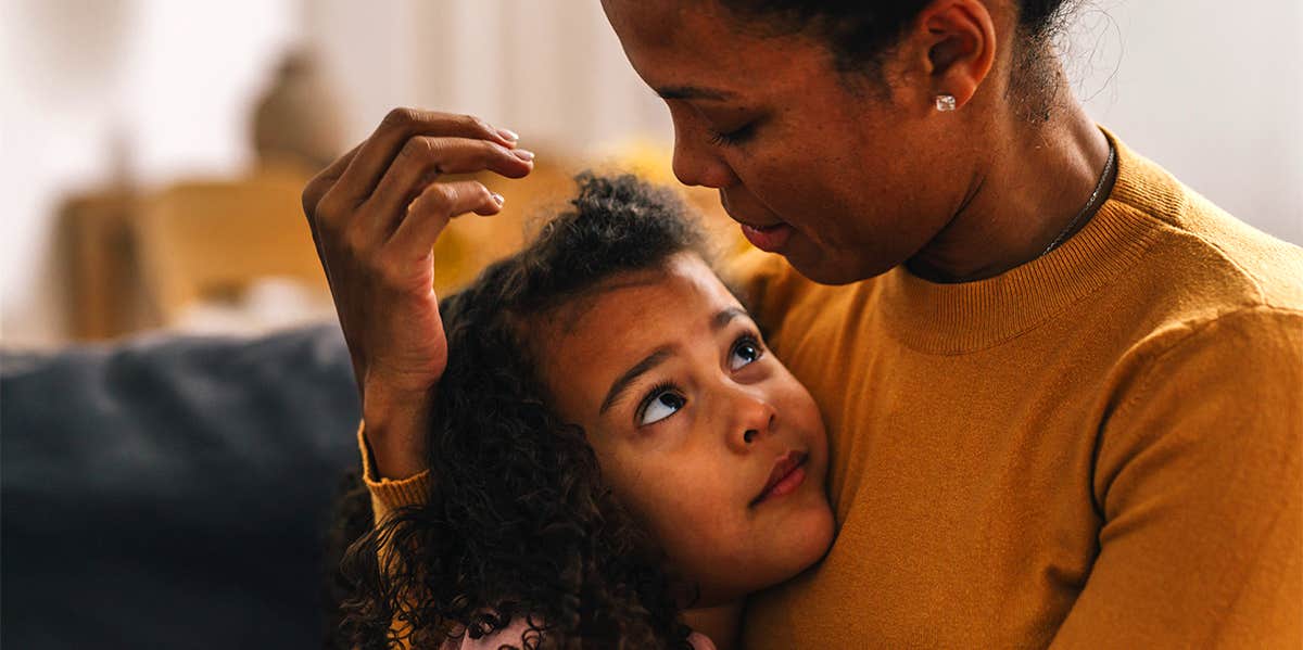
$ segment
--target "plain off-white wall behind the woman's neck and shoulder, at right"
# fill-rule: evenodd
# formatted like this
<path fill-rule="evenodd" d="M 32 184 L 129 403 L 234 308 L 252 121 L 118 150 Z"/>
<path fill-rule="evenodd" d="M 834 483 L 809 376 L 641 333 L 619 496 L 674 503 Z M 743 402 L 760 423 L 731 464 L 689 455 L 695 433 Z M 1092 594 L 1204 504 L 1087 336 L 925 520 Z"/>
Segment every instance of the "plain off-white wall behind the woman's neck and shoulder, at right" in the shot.
<path fill-rule="evenodd" d="M 1303 1 L 1092 0 L 1087 109 L 1235 216 L 1303 245 Z"/>

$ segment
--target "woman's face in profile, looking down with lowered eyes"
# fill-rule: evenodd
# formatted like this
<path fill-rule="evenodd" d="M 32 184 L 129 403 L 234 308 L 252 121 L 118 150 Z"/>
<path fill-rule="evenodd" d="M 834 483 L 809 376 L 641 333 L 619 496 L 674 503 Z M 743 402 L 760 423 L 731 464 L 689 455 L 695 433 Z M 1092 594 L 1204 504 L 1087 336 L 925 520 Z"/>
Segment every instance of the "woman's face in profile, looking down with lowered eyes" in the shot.
<path fill-rule="evenodd" d="M 741 224 L 777 225 L 749 238 L 807 277 L 842 284 L 900 264 L 973 185 L 960 165 L 976 146 L 968 117 L 936 112 L 913 49 L 883 64 L 882 85 L 839 74 L 809 38 L 736 30 L 713 3 L 602 5 L 670 108 L 679 180 L 718 189 Z"/>

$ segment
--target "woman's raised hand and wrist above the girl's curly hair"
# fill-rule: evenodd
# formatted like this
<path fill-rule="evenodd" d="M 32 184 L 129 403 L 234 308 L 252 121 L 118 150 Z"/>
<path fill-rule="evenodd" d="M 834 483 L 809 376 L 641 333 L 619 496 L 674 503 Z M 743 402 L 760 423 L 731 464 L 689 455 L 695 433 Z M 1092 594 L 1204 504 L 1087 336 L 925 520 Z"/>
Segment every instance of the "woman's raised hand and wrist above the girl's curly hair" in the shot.
<path fill-rule="evenodd" d="M 397 108 L 304 189 L 380 475 L 420 472 L 430 389 L 448 361 L 434 242 L 453 216 L 503 202 L 478 181 L 437 181 L 483 169 L 519 178 L 533 154 L 476 117 Z"/>

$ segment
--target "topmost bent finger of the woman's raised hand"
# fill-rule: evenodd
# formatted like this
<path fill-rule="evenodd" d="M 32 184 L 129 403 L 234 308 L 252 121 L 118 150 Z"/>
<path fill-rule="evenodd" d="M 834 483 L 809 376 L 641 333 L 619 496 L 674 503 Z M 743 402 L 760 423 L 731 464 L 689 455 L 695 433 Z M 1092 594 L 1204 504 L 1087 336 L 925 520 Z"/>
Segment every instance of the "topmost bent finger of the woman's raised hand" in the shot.
<path fill-rule="evenodd" d="M 439 113 L 413 108 L 395 108 L 384 116 L 361 150 L 348 164 L 339 182 L 330 190 L 336 201 L 357 206 L 374 191 L 380 177 L 397 158 L 399 151 L 413 135 L 455 137 L 485 139 L 511 148 L 516 142 L 504 132 L 489 126 L 483 120 L 469 115 Z"/>

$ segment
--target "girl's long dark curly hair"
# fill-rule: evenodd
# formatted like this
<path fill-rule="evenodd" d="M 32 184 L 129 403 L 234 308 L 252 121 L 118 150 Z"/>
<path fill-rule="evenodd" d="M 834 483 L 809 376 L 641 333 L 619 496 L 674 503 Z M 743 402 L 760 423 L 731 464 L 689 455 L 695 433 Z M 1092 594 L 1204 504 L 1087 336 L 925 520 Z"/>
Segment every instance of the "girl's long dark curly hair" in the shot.
<path fill-rule="evenodd" d="M 683 251 L 706 258 L 705 240 L 668 190 L 632 176 L 577 181 L 571 208 L 524 250 L 442 301 L 431 490 L 361 537 L 367 496 L 351 494 L 339 521 L 352 516 L 354 529 L 335 537 L 356 541 L 332 576 L 351 591 L 343 646 L 388 647 L 396 623 L 413 647 L 438 647 L 526 617 L 513 640 L 525 647 L 689 647 L 679 585 L 602 481 L 584 430 L 550 408 L 529 344 L 539 317 L 618 274 Z"/>

